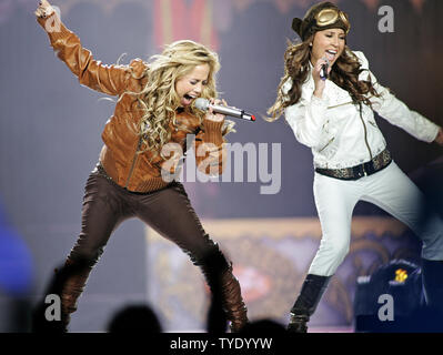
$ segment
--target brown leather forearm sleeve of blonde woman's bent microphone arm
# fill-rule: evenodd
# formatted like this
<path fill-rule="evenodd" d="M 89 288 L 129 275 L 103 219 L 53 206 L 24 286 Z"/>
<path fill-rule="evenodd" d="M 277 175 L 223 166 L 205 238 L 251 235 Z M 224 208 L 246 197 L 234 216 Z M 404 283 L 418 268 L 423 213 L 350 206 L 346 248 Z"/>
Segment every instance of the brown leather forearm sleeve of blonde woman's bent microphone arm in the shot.
<path fill-rule="evenodd" d="M 224 120 L 203 120 L 203 129 L 194 141 L 197 169 L 208 175 L 223 173 L 226 161 L 225 139 L 222 135 Z"/>

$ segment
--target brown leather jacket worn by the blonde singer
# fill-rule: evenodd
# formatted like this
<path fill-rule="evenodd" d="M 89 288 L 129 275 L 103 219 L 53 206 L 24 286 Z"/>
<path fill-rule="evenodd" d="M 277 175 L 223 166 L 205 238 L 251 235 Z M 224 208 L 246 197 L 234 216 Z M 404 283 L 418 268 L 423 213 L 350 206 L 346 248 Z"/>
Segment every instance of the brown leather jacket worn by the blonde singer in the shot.
<path fill-rule="evenodd" d="M 79 78 L 81 84 L 109 95 L 118 95 L 113 115 L 108 120 L 102 132 L 104 145 L 100 153 L 100 163 L 115 183 L 134 192 L 149 192 L 162 189 L 169 184 L 161 175 L 162 163 L 160 155 L 153 158 L 150 151 L 140 151 L 140 119 L 142 111 L 138 108 L 134 95 L 127 92 L 140 92 L 147 81 L 144 71 L 147 63 L 134 59 L 129 65 L 104 65 L 92 58 L 89 50 L 82 48 L 80 39 L 60 22 L 60 31 L 54 27 L 46 26 L 49 19 L 38 18 L 38 22 L 47 30 L 50 43 L 57 55 Z M 215 122 L 204 119 L 202 123 L 185 112 L 177 115 L 177 125 L 170 124 L 171 142 L 179 143 L 185 149 L 187 134 L 195 134 L 193 142 L 195 152 L 203 143 L 215 144 L 218 155 L 209 159 L 209 153 L 197 154 L 195 162 L 204 173 L 209 173 L 210 164 L 217 165 L 215 171 L 223 170 L 225 142 L 222 136 L 223 121 Z M 203 145 L 202 148 L 204 148 Z M 204 151 L 204 149 L 203 149 Z M 203 156 L 199 156 L 203 155 Z M 211 163 L 212 162 L 212 163 Z M 170 172 L 174 168 L 168 169 Z M 213 173 L 212 166 L 211 172 Z"/>

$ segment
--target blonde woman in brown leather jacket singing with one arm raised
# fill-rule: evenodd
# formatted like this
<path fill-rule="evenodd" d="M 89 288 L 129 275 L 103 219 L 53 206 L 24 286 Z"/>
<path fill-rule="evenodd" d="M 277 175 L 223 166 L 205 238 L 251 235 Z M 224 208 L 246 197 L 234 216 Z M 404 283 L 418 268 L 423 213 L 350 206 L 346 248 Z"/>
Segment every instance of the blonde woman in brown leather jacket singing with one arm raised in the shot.
<path fill-rule="evenodd" d="M 232 124 L 221 114 L 192 105 L 195 98 L 220 102 L 215 100 L 217 53 L 192 41 L 178 41 L 150 62 L 134 59 L 129 65 L 108 67 L 82 48 L 48 1 L 40 2 L 36 16 L 53 50 L 81 84 L 118 97 L 102 132 L 99 162 L 85 185 L 81 233 L 63 270 L 62 329 L 67 331 L 70 314 L 77 310 L 112 232 L 124 220 L 139 217 L 201 267 L 231 329 L 240 331 L 248 322 L 246 307 L 232 265 L 204 232 L 183 185 L 165 179 L 179 169 L 182 154 L 178 156 L 178 152 L 190 148 L 185 146 L 187 134 L 195 135 L 199 170 L 222 172 L 224 135 Z"/>

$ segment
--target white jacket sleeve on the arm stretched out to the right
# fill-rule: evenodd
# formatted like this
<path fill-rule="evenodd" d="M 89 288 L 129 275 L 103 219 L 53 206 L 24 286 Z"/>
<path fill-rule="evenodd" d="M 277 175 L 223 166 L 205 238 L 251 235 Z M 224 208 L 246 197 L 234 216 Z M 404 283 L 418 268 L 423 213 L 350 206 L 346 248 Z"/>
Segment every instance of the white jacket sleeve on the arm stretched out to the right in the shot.
<path fill-rule="evenodd" d="M 354 52 L 359 58 L 362 69 L 360 80 L 368 80 L 368 75 L 380 98 L 371 98 L 375 112 L 391 124 L 400 126 L 417 140 L 432 142 L 435 140 L 440 126 L 431 122 L 419 112 L 410 110 L 402 101 L 395 98 L 389 89 L 382 87 L 375 75 L 369 70 L 369 62 L 362 52 Z"/>

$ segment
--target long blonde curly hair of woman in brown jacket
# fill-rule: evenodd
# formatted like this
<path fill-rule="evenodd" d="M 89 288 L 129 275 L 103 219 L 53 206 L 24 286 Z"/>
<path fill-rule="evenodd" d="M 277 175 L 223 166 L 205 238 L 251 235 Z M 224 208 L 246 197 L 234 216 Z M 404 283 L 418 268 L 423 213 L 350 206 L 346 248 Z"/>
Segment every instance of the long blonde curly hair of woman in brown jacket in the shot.
<path fill-rule="evenodd" d="M 177 123 L 175 114 L 181 105 L 175 83 L 201 64 L 208 64 L 210 68 L 208 83 L 202 89 L 201 98 L 217 98 L 215 78 L 220 70 L 219 57 L 203 44 L 181 40 L 167 45 L 161 54 L 150 58 L 143 74 L 147 84 L 137 93 L 137 100 L 144 112 L 140 124 L 144 151 L 152 151 L 155 156 L 171 140 L 170 123 Z M 200 121 L 203 120 L 205 112 L 193 105 L 187 110 Z M 225 121 L 222 133 L 233 131 L 233 122 Z"/>

